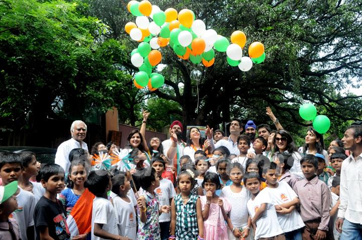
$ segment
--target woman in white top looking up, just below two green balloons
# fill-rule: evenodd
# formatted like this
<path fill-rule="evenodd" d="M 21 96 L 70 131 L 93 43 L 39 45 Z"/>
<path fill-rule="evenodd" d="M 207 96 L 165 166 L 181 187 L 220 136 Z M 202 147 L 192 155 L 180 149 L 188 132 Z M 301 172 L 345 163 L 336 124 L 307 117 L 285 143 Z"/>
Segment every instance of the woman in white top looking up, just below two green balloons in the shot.
<path fill-rule="evenodd" d="M 324 140 L 323 135 L 314 130 L 313 127 L 308 128 L 307 135 L 305 137 L 304 146 L 300 147 L 298 151 L 304 154 L 313 154 L 320 153 L 324 155 L 324 161 L 327 166 L 329 166 L 328 161 L 328 152 L 324 150 Z"/>

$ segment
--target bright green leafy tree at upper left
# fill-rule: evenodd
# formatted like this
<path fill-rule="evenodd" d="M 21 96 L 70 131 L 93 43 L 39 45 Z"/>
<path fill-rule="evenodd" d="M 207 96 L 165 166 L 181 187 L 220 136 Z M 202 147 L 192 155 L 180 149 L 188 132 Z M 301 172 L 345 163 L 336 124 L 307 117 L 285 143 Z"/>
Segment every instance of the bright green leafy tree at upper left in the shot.
<path fill-rule="evenodd" d="M 0 12 L 3 129 L 36 131 L 47 116 L 86 119 L 127 96 L 125 47 L 76 3 L 4 0 Z"/>

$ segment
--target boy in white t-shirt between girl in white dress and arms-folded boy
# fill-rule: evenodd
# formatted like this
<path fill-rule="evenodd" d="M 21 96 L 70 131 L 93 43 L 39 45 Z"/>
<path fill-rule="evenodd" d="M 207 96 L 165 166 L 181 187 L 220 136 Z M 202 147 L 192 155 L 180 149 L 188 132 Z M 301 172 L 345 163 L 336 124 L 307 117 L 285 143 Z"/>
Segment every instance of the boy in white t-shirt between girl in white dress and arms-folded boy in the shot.
<path fill-rule="evenodd" d="M 283 230 L 276 221 L 277 212 L 269 194 L 260 192 L 260 176 L 250 172 L 244 176 L 244 185 L 252 197 L 246 206 L 254 228 L 255 239 L 284 240 Z"/>

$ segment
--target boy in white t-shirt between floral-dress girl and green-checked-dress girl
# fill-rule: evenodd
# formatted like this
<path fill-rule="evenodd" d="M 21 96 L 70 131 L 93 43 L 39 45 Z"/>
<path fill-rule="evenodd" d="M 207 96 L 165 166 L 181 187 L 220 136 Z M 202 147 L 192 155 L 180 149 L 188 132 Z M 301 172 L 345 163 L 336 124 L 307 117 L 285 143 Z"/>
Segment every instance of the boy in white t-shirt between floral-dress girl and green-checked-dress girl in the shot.
<path fill-rule="evenodd" d="M 155 189 L 155 193 L 158 195 L 160 206 L 167 205 L 169 206 L 171 200 L 176 196 L 176 191 L 173 188 L 173 184 L 168 179 L 162 178 L 162 172 L 165 169 L 165 162 L 162 157 L 154 156 L 152 157 L 151 166 L 156 170 L 156 174 L 160 179 L 160 186 Z M 163 212 L 159 216 L 159 225 L 161 228 L 161 240 L 168 239 L 169 236 L 169 226 L 171 222 L 171 213 Z"/>

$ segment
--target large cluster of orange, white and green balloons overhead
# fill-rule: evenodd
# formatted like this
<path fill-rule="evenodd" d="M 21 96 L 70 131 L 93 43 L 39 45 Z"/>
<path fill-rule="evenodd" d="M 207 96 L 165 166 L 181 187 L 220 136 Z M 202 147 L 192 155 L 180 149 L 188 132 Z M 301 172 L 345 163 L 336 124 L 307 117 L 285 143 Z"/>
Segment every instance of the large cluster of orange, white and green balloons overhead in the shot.
<path fill-rule="evenodd" d="M 196 19 L 194 12 L 189 9 L 177 12 L 168 8 L 161 11 L 147 0 L 132 0 L 127 8 L 136 16 L 136 21 L 127 23 L 125 30 L 132 40 L 140 42 L 131 52 L 131 62 L 140 70 L 134 80 L 137 88 L 148 86 L 153 91 L 163 85 L 163 76 L 152 73 L 152 69 L 162 59 L 158 49 L 167 45 L 179 58 L 194 64 L 202 62 L 206 67 L 214 64 L 215 50 L 226 52 L 228 64 L 238 66 L 242 71 L 250 70 L 253 63 L 258 64 L 265 59 L 262 43 L 251 43 L 248 47 L 249 56 L 243 56 L 246 43 L 243 32 L 233 32 L 230 44 L 226 37 L 218 35 L 215 30 L 206 29 L 205 23 Z"/>

